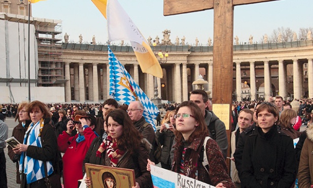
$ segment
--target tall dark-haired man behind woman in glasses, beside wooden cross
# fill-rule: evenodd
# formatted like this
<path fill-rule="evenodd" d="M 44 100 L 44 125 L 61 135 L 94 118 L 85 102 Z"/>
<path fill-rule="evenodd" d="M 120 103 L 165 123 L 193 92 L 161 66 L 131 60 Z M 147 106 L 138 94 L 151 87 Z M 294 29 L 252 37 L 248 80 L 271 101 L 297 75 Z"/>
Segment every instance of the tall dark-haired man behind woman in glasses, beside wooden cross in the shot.
<path fill-rule="evenodd" d="M 198 107 L 200 107 L 208 128 L 208 134 L 220 146 L 223 156 L 226 159 L 228 141 L 225 124 L 213 113 L 213 111 L 206 110 L 208 105 L 210 105 L 207 93 L 201 89 L 193 90 L 191 91 L 189 101 L 196 103 Z"/>

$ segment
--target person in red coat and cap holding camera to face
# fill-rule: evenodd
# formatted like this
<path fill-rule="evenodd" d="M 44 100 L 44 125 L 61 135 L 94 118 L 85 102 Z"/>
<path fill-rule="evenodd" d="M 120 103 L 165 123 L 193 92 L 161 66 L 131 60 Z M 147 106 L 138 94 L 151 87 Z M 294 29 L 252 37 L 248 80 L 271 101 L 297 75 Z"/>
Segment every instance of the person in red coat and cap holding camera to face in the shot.
<path fill-rule="evenodd" d="M 66 188 L 77 188 L 78 180 L 83 178 L 83 160 L 97 134 L 93 131 L 96 125 L 94 116 L 84 111 L 77 111 L 75 121 L 66 123 L 67 131 L 63 131 L 58 137 L 58 148 L 64 152 L 63 181 Z M 72 136 L 76 128 L 78 134 Z"/>

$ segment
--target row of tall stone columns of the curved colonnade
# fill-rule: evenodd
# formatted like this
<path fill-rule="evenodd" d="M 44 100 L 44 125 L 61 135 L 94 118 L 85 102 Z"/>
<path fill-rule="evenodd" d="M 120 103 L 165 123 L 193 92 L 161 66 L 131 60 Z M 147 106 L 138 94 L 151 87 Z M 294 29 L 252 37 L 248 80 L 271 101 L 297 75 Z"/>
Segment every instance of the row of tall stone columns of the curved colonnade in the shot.
<path fill-rule="evenodd" d="M 308 76 L 308 93 L 309 98 L 313 98 L 313 59 L 307 59 L 307 76 Z M 188 100 L 188 92 L 191 91 L 191 84 L 197 79 L 200 74 L 200 67 L 203 68 L 203 64 L 198 62 L 177 61 L 169 62 L 170 66 L 163 68 L 164 76 L 166 77 L 166 92 L 167 100 L 182 102 Z M 244 64 L 244 65 L 243 65 Z M 292 64 L 293 72 L 293 93 L 295 99 L 301 99 L 303 97 L 303 59 L 300 62 L 299 59 L 279 59 L 279 60 L 264 60 L 264 61 L 235 61 L 235 93 L 236 100 L 242 101 L 242 89 L 241 85 L 243 80 L 247 78 L 242 77 L 243 66 L 246 70 L 249 70 L 249 84 L 250 84 L 250 99 L 257 100 L 257 78 L 256 78 L 256 66 L 263 67 L 264 78 L 264 98 L 267 100 L 272 95 L 272 76 L 271 66 L 278 65 L 278 95 L 284 99 L 287 98 L 287 64 Z M 246 66 L 249 65 L 249 69 Z M 140 84 L 141 88 L 145 91 L 147 96 L 151 99 L 154 97 L 154 84 L 153 76 L 143 74 L 138 64 L 127 64 L 129 73 L 134 81 Z M 187 69 L 190 69 L 191 75 L 187 74 Z M 72 75 L 71 70 L 72 69 Z M 260 68 L 258 68 L 260 69 Z M 86 70 L 88 70 L 88 80 L 86 80 Z M 100 70 L 102 70 L 103 76 L 101 78 Z M 208 90 L 213 90 L 213 61 L 208 61 L 205 66 L 206 80 L 208 81 Z M 260 74 L 258 72 L 258 74 Z M 188 78 L 190 76 L 190 78 Z M 109 65 L 105 62 L 103 64 L 98 62 L 85 63 L 85 62 L 65 62 L 65 79 L 69 80 L 65 83 L 65 102 L 71 102 L 72 100 L 77 102 L 85 102 L 86 89 L 88 89 L 88 101 L 99 102 L 109 97 Z M 102 79 L 102 80 L 101 80 Z M 189 81 L 188 81 L 189 80 Z M 74 86 L 72 92 L 74 92 L 74 99 L 71 99 L 71 83 Z M 161 79 L 157 78 L 158 93 L 161 98 Z M 101 85 L 102 84 L 102 85 Z M 144 84 L 144 86 L 143 86 Z M 73 88 L 72 86 L 72 88 Z M 88 87 L 87 87 L 88 86 Z M 102 95 L 101 95 L 102 93 Z M 212 93 L 214 97 L 214 93 Z M 102 96 L 102 98 L 101 98 Z M 165 96 L 163 96 L 163 99 Z"/>

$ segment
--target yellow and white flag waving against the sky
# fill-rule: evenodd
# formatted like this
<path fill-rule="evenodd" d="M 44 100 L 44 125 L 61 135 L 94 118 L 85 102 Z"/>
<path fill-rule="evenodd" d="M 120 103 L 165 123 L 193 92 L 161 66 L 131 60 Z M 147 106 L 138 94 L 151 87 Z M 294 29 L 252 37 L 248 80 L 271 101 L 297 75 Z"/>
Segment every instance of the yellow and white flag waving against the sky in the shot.
<path fill-rule="evenodd" d="M 144 73 L 162 78 L 162 68 L 147 40 L 117 0 L 91 0 L 108 20 L 109 41 L 130 41 Z"/>

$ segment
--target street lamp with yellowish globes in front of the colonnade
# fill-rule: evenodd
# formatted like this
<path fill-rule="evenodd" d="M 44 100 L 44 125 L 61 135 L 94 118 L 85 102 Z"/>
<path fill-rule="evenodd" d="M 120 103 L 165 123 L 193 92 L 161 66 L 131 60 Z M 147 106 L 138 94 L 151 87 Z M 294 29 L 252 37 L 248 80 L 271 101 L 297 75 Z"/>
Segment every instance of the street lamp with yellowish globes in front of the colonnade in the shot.
<path fill-rule="evenodd" d="M 159 61 L 159 64 L 165 64 L 167 62 L 167 57 L 168 57 L 168 53 L 166 52 L 165 54 L 162 53 L 162 51 L 160 50 L 157 54 L 155 53 L 155 47 L 156 47 L 156 42 L 155 40 L 153 40 L 152 46 L 154 48 L 154 55 L 156 56 L 156 58 Z M 163 59 L 165 57 L 165 59 Z M 158 108 L 162 108 L 162 103 L 161 103 L 161 99 L 158 97 L 159 95 L 159 91 L 158 91 L 158 80 L 157 78 L 154 76 L 153 77 L 153 81 L 154 81 L 154 97 L 152 98 L 152 102 L 158 107 Z"/>

